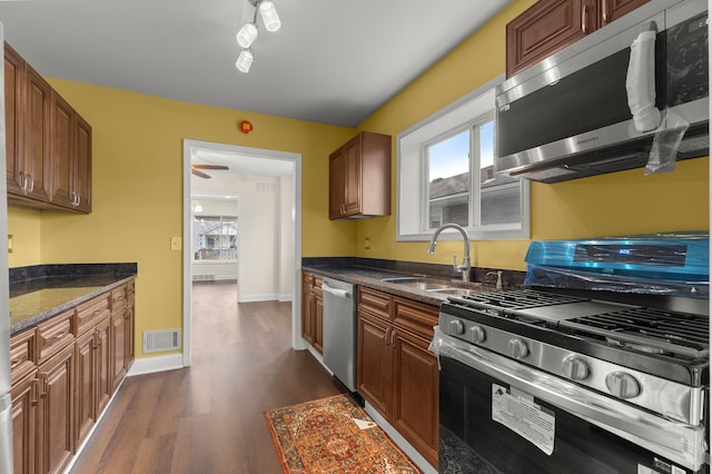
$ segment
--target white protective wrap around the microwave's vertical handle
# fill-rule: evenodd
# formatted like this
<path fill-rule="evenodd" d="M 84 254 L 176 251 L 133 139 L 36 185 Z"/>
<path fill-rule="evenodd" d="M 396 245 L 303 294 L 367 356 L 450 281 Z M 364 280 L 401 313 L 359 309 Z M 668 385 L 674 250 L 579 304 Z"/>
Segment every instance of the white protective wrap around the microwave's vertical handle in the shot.
<path fill-rule="evenodd" d="M 660 126 L 655 107 L 655 31 L 641 32 L 631 45 L 631 59 L 625 77 L 627 105 L 637 131 L 651 131 Z"/>

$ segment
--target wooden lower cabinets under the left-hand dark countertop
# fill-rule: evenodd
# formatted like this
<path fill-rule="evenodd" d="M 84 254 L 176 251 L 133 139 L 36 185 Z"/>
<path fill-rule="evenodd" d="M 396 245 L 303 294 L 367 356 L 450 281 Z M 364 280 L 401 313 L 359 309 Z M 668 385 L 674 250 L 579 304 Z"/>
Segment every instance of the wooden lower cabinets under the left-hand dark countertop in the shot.
<path fill-rule="evenodd" d="M 132 339 L 132 280 L 10 338 L 14 474 L 65 471 L 126 376 Z"/>

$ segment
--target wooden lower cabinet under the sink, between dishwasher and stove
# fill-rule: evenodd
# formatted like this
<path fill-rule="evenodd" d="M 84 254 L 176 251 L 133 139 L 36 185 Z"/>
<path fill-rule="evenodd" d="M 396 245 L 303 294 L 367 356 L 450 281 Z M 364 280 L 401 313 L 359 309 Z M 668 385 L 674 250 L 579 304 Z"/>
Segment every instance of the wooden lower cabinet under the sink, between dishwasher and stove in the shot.
<path fill-rule="evenodd" d="M 358 288 L 358 393 L 437 467 L 437 307 Z"/>

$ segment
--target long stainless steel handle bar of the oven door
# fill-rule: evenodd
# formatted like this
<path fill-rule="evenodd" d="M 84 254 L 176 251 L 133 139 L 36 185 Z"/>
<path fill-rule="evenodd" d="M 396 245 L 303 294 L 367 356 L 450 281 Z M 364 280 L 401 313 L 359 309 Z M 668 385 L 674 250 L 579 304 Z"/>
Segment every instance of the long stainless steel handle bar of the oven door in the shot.
<path fill-rule="evenodd" d="M 702 426 L 662 418 L 436 330 L 431 348 L 693 471 L 704 464 Z"/>

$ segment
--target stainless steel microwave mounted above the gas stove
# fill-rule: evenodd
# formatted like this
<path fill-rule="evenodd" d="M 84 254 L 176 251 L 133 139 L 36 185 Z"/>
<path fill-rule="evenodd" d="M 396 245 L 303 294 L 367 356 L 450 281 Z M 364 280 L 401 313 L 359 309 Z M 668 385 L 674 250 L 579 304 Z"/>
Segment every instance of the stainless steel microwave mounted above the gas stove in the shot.
<path fill-rule="evenodd" d="M 557 182 L 644 167 L 672 117 L 688 127 L 676 159 L 709 156 L 706 9 L 706 0 L 651 0 L 502 82 L 495 170 Z M 629 105 L 636 86 L 626 88 L 626 79 L 632 45 L 644 31 L 654 41 L 647 67 L 636 72 L 650 76 L 661 119 L 641 130 Z"/>

